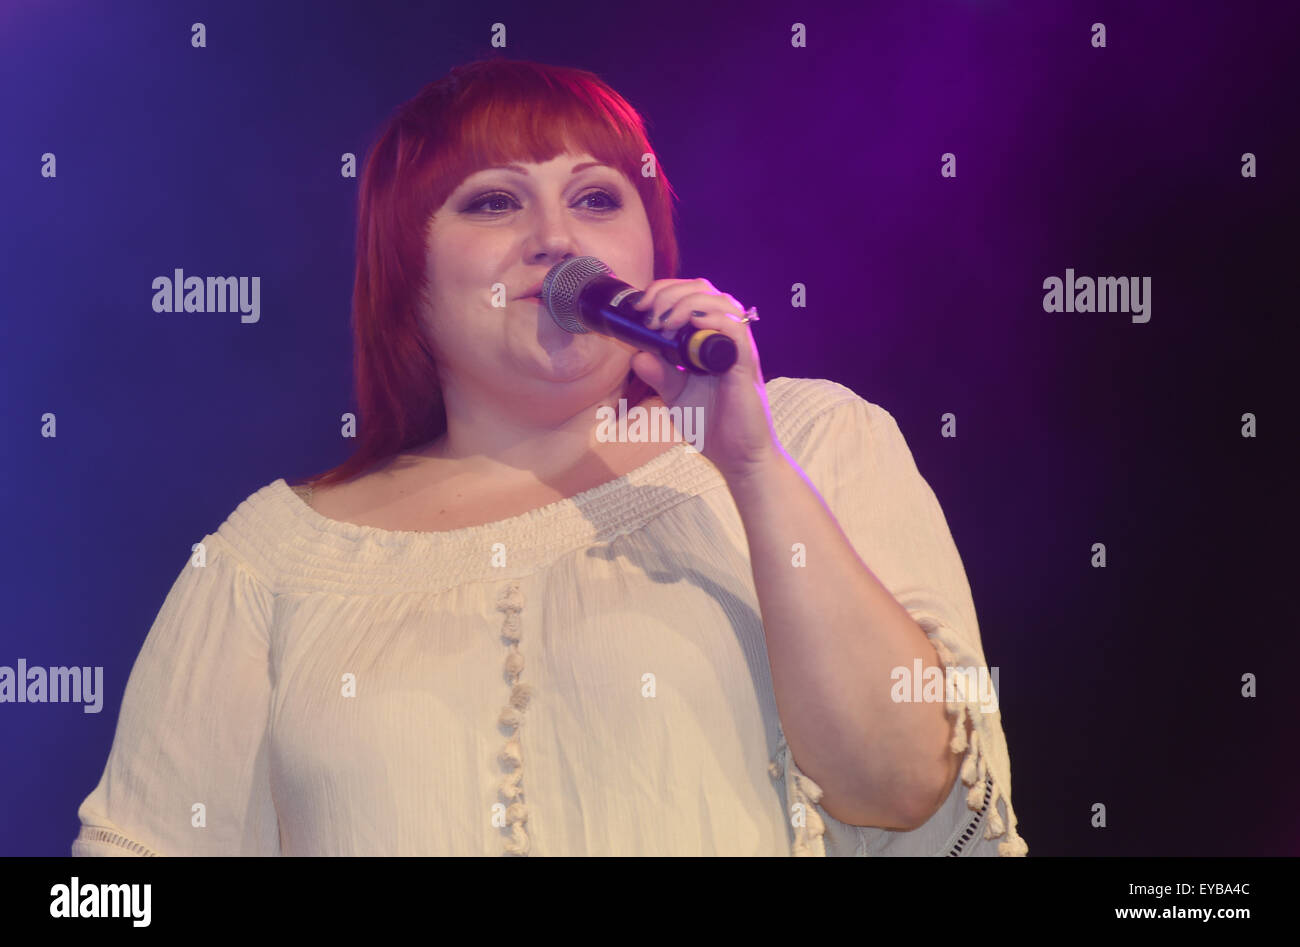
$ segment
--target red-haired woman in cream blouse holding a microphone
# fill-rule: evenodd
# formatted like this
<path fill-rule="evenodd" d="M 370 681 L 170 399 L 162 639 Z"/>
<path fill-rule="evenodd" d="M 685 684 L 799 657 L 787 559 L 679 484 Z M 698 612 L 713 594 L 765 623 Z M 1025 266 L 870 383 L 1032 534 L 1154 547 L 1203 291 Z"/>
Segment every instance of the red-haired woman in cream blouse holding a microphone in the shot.
<path fill-rule="evenodd" d="M 360 189 L 358 446 L 182 568 L 74 855 L 1027 852 L 898 425 L 763 380 L 754 311 L 677 278 L 672 198 L 586 72 L 474 62 L 396 112 Z M 576 256 L 734 366 L 562 330 L 537 293 Z M 702 437 L 607 436 L 637 408 Z"/>

